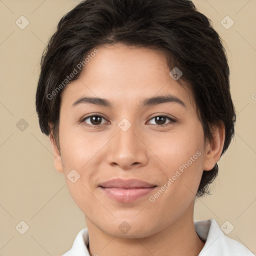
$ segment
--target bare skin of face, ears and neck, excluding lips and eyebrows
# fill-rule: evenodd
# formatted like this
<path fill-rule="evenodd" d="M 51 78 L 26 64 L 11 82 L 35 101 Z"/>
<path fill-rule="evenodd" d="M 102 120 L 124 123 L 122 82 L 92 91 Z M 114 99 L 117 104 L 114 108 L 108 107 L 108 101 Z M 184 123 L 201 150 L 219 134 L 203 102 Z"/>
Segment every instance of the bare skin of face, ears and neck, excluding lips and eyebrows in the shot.
<path fill-rule="evenodd" d="M 169 75 L 162 52 L 121 43 L 97 47 L 78 80 L 61 94 L 59 145 L 49 136 L 54 165 L 63 172 L 68 190 L 85 215 L 89 253 L 105 255 L 198 255 L 204 245 L 193 225 L 195 194 L 203 170 L 219 159 L 224 127 L 215 127 L 212 141 L 204 141 L 202 125 L 189 88 Z M 165 102 L 141 107 L 144 98 L 172 94 L 185 103 Z M 81 103 L 82 96 L 110 101 L 112 108 Z M 82 119 L 101 114 L 100 125 Z M 168 116 L 165 126 L 155 116 Z M 126 118 L 127 131 L 118 123 Z M 86 126 L 87 124 L 88 126 Z M 201 154 L 155 201 L 149 201 L 183 163 Z M 67 174 L 75 169 L 74 183 Z M 157 185 L 133 202 L 117 202 L 98 187 L 111 178 L 137 178 Z M 130 230 L 118 226 L 126 221 Z"/>

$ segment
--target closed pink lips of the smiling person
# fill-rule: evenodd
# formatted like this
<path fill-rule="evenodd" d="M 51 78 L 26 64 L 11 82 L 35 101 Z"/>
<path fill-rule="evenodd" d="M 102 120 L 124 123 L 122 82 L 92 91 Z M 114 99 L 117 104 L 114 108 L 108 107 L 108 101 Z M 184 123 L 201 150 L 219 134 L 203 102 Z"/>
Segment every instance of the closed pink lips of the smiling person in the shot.
<path fill-rule="evenodd" d="M 99 187 L 107 196 L 118 202 L 132 202 L 151 192 L 156 185 L 140 179 L 114 178 L 100 183 Z"/>

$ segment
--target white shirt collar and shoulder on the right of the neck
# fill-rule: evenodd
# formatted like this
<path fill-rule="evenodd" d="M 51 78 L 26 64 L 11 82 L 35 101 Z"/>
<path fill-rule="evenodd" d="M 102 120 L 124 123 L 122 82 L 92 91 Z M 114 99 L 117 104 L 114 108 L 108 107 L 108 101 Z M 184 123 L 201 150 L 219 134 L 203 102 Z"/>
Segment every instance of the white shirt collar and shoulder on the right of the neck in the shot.
<path fill-rule="evenodd" d="M 199 256 L 255 256 L 240 242 L 227 237 L 215 219 L 194 221 L 195 231 L 205 241 Z"/>

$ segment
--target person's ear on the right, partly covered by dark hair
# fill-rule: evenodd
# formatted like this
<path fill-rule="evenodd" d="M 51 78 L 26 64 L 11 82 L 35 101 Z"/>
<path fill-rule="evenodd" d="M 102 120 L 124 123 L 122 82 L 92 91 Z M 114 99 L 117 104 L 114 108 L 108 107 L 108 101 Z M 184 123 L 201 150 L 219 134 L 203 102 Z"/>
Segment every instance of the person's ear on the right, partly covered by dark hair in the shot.
<path fill-rule="evenodd" d="M 212 140 L 207 141 L 205 145 L 205 156 L 203 169 L 211 170 L 219 159 L 225 140 L 225 126 L 221 121 L 218 126 L 212 129 Z"/>

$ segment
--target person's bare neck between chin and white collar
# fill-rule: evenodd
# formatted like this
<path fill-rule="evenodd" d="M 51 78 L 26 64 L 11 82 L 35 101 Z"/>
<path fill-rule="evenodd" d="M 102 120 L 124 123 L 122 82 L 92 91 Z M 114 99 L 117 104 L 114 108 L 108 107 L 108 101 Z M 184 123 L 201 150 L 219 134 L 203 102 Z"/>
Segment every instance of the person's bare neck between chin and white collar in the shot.
<path fill-rule="evenodd" d="M 92 256 L 197 256 L 201 251 L 202 241 L 194 229 L 193 203 L 175 222 L 160 232 L 142 238 L 121 238 L 102 232 L 86 218 L 89 233 L 89 254 Z"/>

